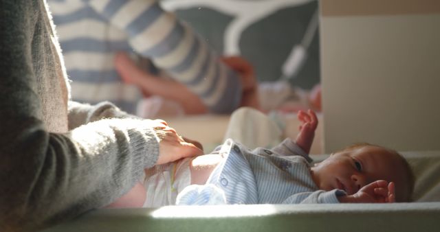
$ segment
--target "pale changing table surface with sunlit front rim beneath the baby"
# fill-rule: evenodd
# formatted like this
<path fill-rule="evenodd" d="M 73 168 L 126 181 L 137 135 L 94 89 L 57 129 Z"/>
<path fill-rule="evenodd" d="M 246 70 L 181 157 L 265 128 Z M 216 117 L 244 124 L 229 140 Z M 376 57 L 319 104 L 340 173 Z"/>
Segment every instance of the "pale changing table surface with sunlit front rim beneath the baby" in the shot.
<path fill-rule="evenodd" d="M 440 151 L 406 152 L 415 200 L 396 204 L 214 205 L 99 209 L 52 231 L 438 231 Z M 325 159 L 327 155 L 313 156 Z"/>

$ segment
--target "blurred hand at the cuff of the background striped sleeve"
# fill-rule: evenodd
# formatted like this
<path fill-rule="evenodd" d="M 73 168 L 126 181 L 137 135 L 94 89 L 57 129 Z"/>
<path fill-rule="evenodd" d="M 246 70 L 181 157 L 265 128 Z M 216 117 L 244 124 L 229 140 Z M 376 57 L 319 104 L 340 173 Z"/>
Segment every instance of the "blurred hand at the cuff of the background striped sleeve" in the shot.
<path fill-rule="evenodd" d="M 241 86 L 243 86 L 243 94 L 241 96 L 240 106 L 250 106 L 260 109 L 258 96 L 258 82 L 256 81 L 254 67 L 240 56 L 228 56 L 222 58 L 223 62 L 232 70 L 236 71 L 241 78 Z"/>

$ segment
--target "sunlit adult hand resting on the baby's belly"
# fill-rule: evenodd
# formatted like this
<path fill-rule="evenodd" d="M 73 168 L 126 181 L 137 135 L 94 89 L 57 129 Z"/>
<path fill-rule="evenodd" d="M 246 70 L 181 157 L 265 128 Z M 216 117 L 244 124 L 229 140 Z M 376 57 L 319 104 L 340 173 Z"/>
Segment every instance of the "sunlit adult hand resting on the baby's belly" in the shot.
<path fill-rule="evenodd" d="M 178 159 L 199 156 L 203 154 L 201 150 L 201 144 L 196 141 L 192 141 L 195 144 L 186 141 L 183 137 L 177 135 L 176 130 L 169 126 L 157 126 L 155 127 L 157 137 L 159 137 L 159 158 L 156 164 L 164 164 Z"/>

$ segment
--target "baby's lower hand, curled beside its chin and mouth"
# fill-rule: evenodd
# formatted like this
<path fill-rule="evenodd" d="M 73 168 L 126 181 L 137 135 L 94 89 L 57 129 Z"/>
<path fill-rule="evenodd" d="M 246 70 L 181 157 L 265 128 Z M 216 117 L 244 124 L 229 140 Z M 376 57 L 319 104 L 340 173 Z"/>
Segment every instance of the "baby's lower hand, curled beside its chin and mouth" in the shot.
<path fill-rule="evenodd" d="M 350 196 L 339 196 L 342 203 L 392 203 L 395 202 L 395 185 L 393 182 L 375 181 L 365 185 Z"/>

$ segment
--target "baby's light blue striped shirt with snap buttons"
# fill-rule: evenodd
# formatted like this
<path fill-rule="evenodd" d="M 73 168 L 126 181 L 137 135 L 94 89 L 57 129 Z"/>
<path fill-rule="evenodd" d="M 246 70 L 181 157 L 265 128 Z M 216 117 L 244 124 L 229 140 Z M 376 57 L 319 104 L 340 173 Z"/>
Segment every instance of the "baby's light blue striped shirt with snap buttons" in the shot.
<path fill-rule="evenodd" d="M 248 150 L 225 141 L 227 158 L 206 185 L 190 185 L 177 196 L 178 205 L 338 203 L 342 190 L 318 189 L 310 174 L 310 157 L 291 139 L 272 150 Z"/>

